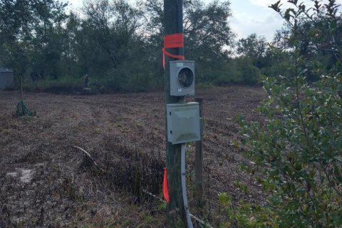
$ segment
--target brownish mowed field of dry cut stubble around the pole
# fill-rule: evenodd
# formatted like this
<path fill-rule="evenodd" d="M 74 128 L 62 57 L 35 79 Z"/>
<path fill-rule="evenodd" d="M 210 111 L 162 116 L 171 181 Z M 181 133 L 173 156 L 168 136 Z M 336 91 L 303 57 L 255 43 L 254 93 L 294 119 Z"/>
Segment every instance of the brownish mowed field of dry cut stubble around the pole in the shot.
<path fill-rule="evenodd" d="M 216 226 L 219 192 L 234 202 L 264 202 L 261 187 L 240 168 L 249 161 L 234 116 L 262 120 L 253 110 L 266 94 L 259 87 L 229 86 L 200 90 L 196 97 L 204 100 L 205 219 Z M 165 227 L 162 204 L 144 194 L 161 196 L 163 93 L 24 93 L 24 101 L 36 115 L 16 118 L 19 92 L 0 92 L 1 228 Z M 196 214 L 194 145 L 187 144 L 187 188 Z"/>

